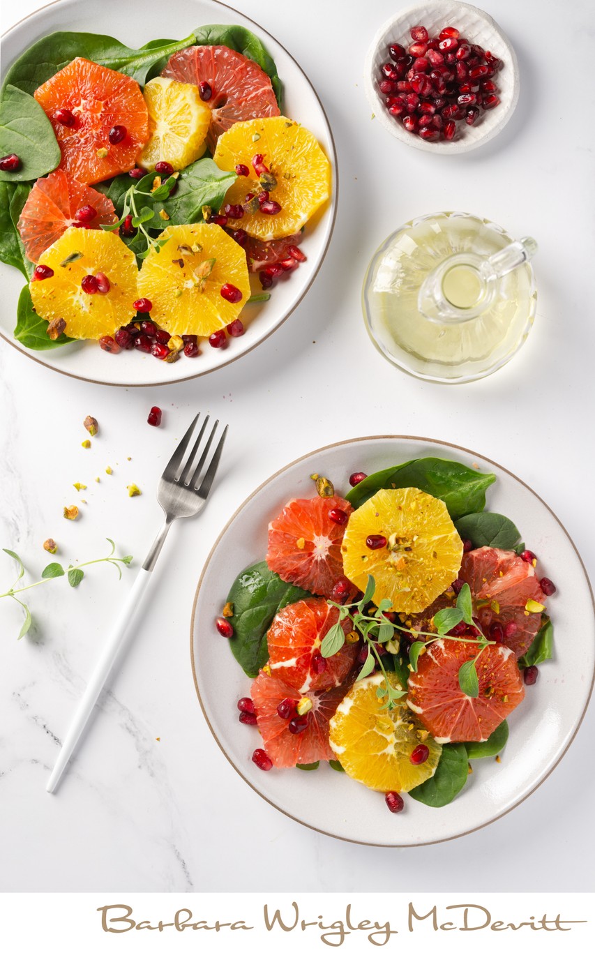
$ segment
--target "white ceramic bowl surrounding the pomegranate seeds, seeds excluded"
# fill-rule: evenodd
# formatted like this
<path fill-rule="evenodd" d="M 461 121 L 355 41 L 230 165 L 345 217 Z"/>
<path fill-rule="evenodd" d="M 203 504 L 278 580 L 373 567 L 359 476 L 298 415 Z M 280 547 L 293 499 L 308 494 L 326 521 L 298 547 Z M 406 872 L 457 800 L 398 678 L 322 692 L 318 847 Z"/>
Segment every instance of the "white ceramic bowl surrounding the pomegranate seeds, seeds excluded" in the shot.
<path fill-rule="evenodd" d="M 379 90 L 380 67 L 390 61 L 388 47 L 391 43 L 408 47 L 413 42 L 409 30 L 418 24 L 424 26 L 430 35 L 439 33 L 444 27 L 457 27 L 472 43 L 479 43 L 484 50 L 492 51 L 503 60 L 503 69 L 495 78 L 500 89 L 500 105 L 484 112 L 477 126 L 458 123 L 461 138 L 451 142 L 427 142 L 419 135 L 407 132 L 400 121 L 388 112 L 384 104 L 385 96 Z M 467 3 L 421 3 L 408 7 L 407 10 L 400 10 L 380 27 L 372 40 L 365 58 L 363 78 L 368 102 L 380 125 L 408 146 L 424 149 L 426 152 L 452 155 L 455 152 L 477 149 L 498 135 L 519 100 L 519 64 L 510 41 L 491 16 Z"/>

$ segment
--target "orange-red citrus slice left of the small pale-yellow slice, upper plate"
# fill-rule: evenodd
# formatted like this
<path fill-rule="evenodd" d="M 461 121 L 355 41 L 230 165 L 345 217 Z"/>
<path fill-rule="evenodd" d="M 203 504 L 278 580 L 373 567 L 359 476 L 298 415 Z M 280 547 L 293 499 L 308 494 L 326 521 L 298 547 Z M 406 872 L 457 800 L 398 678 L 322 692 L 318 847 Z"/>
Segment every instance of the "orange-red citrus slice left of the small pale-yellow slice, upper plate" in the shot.
<path fill-rule="evenodd" d="M 51 76 L 34 96 L 60 145 L 60 168 L 80 182 L 102 182 L 129 172 L 149 138 L 149 114 L 138 83 L 81 56 Z M 110 140 L 111 132 L 116 142 Z"/>

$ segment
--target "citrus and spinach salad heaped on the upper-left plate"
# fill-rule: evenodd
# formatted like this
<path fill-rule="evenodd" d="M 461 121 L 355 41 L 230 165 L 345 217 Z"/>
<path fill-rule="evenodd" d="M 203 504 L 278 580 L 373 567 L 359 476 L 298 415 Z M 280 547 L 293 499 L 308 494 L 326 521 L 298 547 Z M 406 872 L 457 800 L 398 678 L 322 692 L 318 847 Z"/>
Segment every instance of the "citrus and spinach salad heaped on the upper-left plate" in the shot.
<path fill-rule="evenodd" d="M 25 51 L 0 97 L 0 260 L 28 279 L 15 337 L 171 363 L 243 335 L 331 193 L 316 137 L 280 104 L 243 27 L 140 50 L 56 32 Z"/>

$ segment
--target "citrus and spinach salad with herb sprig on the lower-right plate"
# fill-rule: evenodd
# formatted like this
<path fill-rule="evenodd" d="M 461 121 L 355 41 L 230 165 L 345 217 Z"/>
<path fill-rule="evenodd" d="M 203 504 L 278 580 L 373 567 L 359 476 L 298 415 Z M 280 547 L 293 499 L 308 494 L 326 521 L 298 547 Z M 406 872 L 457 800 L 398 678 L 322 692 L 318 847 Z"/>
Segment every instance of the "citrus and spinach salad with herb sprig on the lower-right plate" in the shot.
<path fill-rule="evenodd" d="M 219 635 L 253 679 L 239 721 L 252 760 L 327 761 L 390 811 L 441 807 L 471 761 L 500 761 L 507 717 L 552 657 L 556 587 L 508 517 L 486 511 L 496 476 L 435 457 L 291 499 L 264 561 L 243 570 Z"/>

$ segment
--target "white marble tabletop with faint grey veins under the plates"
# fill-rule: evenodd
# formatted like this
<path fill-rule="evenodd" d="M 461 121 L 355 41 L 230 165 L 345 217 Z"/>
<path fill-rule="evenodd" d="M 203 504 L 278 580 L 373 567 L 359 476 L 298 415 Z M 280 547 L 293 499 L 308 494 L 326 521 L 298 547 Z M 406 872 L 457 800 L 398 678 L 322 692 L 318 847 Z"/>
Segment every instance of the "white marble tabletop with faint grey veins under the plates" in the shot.
<path fill-rule="evenodd" d="M 18 10 L 35 6 L 22 0 Z M 405 148 L 370 118 L 361 64 L 395 10 L 391 0 L 368 5 L 365 19 L 360 4 L 339 0 L 301 0 L 293 16 L 269 0 L 236 6 L 271 30 L 318 87 L 339 150 L 335 237 L 292 318 L 216 375 L 171 388 L 101 388 L 52 374 L 0 341 L 0 545 L 32 572 L 48 561 L 41 544 L 50 535 L 66 561 L 103 555 L 106 535 L 142 558 L 159 522 L 155 480 L 175 436 L 198 408 L 230 423 L 212 502 L 199 521 L 174 527 L 130 656 L 55 797 L 45 792 L 48 770 L 134 570 L 118 583 L 111 567 L 96 566 L 76 591 L 64 580 L 32 590 L 38 621 L 20 642 L 20 610 L 0 602 L 0 887 L 469 890 L 480 878 L 493 891 L 593 889 L 592 706 L 562 764 L 497 824 L 433 847 L 364 848 L 300 827 L 236 776 L 195 699 L 189 627 L 202 562 L 239 502 L 279 466 L 348 436 L 434 436 L 493 457 L 544 497 L 595 569 L 586 497 L 595 463 L 587 121 L 595 12 L 585 0 L 492 0 L 489 12 L 519 54 L 521 101 L 495 142 L 448 160 Z M 13 10 L 5 7 L 5 17 Z M 563 33 L 572 40 L 571 91 L 550 65 Z M 393 369 L 370 344 L 359 309 L 380 240 L 443 208 L 481 213 L 540 242 L 538 314 L 522 354 L 459 388 Z M 164 411 L 160 430 L 145 422 L 154 403 Z M 91 450 L 80 446 L 87 414 L 101 426 Z M 113 476 L 104 474 L 108 464 Z M 88 484 L 88 503 L 69 523 L 62 507 L 76 501 L 77 480 Z M 127 496 L 131 480 L 142 497 Z M 0 582 L 10 584 L 11 574 L 2 555 Z M 387 814 L 386 823 L 399 818 Z"/>

